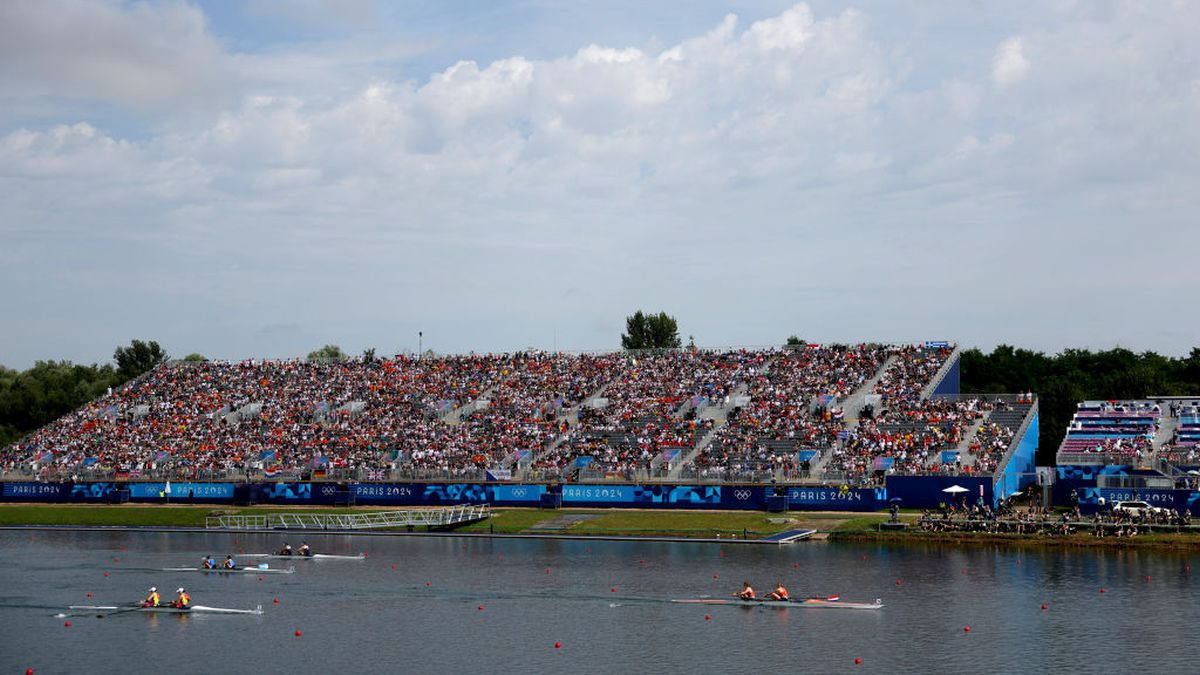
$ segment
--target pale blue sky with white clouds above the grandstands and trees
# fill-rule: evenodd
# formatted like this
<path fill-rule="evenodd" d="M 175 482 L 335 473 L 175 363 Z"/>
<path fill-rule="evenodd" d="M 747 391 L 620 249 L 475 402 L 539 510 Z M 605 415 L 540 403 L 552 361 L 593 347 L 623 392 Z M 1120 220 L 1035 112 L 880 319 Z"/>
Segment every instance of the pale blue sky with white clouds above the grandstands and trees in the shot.
<path fill-rule="evenodd" d="M 0 364 L 1200 346 L 1200 4 L 0 2 Z M 419 335 L 420 334 L 420 335 Z"/>

